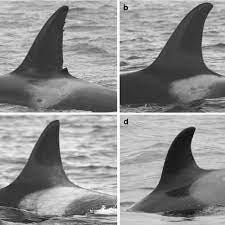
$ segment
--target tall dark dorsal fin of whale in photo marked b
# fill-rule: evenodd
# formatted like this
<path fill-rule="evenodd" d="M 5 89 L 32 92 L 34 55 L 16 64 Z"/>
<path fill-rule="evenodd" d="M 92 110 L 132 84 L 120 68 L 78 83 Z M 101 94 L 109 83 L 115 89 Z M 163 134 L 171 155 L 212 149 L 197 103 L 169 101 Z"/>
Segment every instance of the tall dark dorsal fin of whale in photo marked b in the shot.
<path fill-rule="evenodd" d="M 146 69 L 172 74 L 172 79 L 181 79 L 197 74 L 214 73 L 209 70 L 202 56 L 204 23 L 213 5 L 203 3 L 189 12 L 173 32 L 156 60 Z M 171 79 L 171 76 L 169 77 Z"/>

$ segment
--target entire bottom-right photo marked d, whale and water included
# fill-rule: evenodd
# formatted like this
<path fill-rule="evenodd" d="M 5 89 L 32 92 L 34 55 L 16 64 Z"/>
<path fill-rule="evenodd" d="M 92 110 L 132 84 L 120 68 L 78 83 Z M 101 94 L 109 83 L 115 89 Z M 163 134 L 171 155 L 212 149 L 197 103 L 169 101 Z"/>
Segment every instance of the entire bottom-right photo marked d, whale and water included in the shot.
<path fill-rule="evenodd" d="M 224 224 L 225 115 L 124 115 L 121 225 Z"/>

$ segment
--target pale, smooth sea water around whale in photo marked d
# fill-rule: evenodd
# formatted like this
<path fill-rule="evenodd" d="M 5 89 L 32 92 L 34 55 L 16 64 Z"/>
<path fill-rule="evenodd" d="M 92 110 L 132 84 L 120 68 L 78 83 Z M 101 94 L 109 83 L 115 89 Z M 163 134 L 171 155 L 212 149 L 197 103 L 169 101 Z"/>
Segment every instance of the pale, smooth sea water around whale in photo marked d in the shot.
<path fill-rule="evenodd" d="M 123 120 L 129 118 L 129 125 Z M 121 116 L 121 225 L 219 225 L 225 208 L 208 208 L 189 217 L 128 212 L 159 182 L 169 146 L 184 128 L 195 126 L 192 152 L 203 169 L 225 168 L 225 116 L 145 115 Z"/>

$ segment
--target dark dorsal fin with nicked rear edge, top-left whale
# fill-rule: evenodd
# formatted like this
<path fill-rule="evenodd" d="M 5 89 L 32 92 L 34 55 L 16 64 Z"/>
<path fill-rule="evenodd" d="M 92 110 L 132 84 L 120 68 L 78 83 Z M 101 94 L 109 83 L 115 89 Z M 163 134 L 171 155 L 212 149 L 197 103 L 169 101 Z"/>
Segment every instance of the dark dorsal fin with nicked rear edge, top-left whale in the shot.
<path fill-rule="evenodd" d="M 26 71 L 33 70 L 39 72 L 36 74 L 41 74 L 62 70 L 63 27 L 68 9 L 67 6 L 62 6 L 48 19 L 14 73 L 25 74 Z"/>

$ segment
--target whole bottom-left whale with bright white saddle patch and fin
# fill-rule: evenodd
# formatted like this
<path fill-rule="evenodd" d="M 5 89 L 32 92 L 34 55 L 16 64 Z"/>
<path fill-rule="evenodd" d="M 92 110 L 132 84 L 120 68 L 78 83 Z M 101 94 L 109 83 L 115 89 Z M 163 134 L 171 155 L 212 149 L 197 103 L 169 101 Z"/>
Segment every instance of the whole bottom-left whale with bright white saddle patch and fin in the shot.
<path fill-rule="evenodd" d="M 59 121 L 53 121 L 42 132 L 19 176 L 0 189 L 0 206 L 26 210 L 45 218 L 84 215 L 103 206 L 115 207 L 116 200 L 69 180 L 60 156 Z"/>

